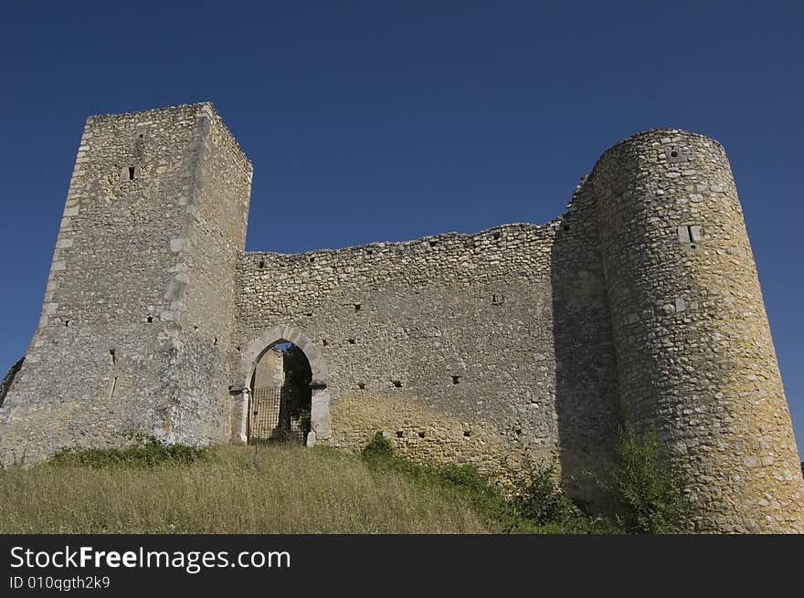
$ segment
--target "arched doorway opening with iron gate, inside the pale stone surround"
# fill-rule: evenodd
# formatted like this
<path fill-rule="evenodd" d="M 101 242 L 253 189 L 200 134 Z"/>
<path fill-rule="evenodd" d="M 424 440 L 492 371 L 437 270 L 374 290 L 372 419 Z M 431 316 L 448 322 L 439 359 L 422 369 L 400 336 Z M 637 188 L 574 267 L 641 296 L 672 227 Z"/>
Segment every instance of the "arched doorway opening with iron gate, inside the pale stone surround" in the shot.
<path fill-rule="evenodd" d="M 304 444 L 310 434 L 312 369 L 292 342 L 278 341 L 263 351 L 249 384 L 249 445 Z"/>

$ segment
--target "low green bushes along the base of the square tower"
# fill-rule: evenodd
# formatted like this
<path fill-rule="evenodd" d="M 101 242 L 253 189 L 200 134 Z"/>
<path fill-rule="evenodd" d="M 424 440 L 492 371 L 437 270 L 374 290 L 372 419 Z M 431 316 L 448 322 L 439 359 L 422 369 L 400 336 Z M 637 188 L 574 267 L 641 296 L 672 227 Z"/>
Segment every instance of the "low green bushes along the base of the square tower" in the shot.
<path fill-rule="evenodd" d="M 153 437 L 127 448 L 65 448 L 48 459 L 56 467 L 156 467 L 190 465 L 210 459 L 206 448 L 168 445 Z"/>

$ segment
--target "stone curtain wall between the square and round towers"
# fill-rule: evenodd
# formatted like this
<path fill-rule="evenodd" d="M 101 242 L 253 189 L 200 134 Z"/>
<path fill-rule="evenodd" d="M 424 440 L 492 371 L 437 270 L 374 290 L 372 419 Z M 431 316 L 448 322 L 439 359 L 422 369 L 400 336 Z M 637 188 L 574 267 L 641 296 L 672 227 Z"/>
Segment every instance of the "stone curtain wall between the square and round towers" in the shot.
<path fill-rule="evenodd" d="M 382 430 L 419 460 L 500 473 L 506 460 L 555 455 L 574 479 L 611 456 L 616 422 L 589 211 L 577 198 L 545 226 L 244 254 L 242 345 L 276 326 L 304 330 L 329 372 L 334 446 Z"/>

